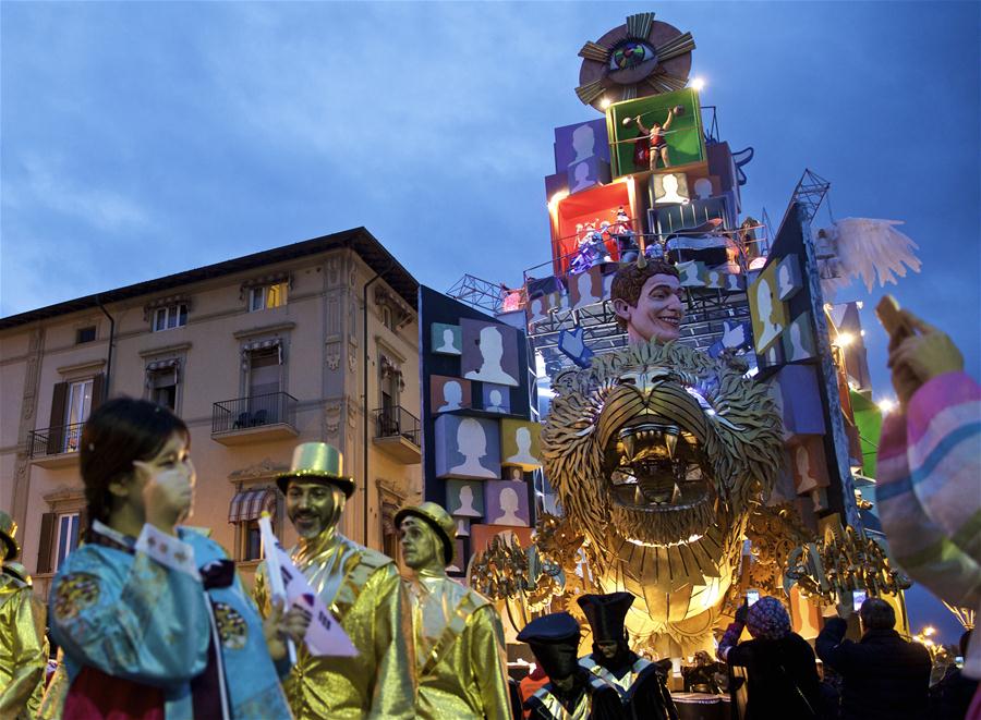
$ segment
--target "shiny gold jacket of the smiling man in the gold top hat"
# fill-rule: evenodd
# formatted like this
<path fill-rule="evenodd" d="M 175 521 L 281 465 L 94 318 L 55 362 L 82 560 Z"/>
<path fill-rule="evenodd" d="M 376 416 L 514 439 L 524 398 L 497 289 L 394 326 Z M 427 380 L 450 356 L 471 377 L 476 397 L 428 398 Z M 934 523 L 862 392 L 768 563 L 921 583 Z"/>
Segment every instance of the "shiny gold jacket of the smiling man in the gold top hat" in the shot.
<path fill-rule="evenodd" d="M 358 657 L 331 658 L 296 648 L 296 664 L 283 682 L 293 715 L 414 718 L 412 625 L 395 561 L 336 530 L 301 539 L 290 556 L 358 649 Z M 255 599 L 268 612 L 265 564 L 256 573 Z"/>

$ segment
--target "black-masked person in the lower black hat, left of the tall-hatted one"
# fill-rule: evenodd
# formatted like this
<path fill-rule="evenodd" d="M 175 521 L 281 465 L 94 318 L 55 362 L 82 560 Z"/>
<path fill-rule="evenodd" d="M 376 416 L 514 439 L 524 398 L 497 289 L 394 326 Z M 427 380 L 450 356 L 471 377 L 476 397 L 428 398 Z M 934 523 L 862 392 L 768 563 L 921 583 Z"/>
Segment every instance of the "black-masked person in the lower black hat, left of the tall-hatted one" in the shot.
<path fill-rule="evenodd" d="M 609 683 L 580 667 L 579 623 L 568 612 L 532 620 L 518 633 L 528 643 L 548 682 L 524 704 L 538 720 L 622 718 L 620 696 Z"/>

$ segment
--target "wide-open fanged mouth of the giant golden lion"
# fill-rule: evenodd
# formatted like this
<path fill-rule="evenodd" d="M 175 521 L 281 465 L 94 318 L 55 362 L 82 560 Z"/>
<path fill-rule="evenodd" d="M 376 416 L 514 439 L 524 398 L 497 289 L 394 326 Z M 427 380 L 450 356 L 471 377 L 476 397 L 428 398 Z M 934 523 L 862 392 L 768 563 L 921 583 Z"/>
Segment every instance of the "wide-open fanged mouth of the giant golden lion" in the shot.
<path fill-rule="evenodd" d="M 639 422 L 607 443 L 604 475 L 613 521 L 628 539 L 675 545 L 715 521 L 716 492 L 697 438 L 676 425 Z"/>

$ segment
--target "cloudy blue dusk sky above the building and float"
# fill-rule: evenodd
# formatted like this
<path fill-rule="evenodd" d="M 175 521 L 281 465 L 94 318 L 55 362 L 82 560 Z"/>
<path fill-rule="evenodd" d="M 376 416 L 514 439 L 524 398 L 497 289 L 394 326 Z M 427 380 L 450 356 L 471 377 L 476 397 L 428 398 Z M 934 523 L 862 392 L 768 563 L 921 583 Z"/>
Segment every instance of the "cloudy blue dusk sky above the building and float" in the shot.
<path fill-rule="evenodd" d="M 548 259 L 577 51 L 628 14 L 691 30 L 744 210 L 804 168 L 833 217 L 905 220 L 894 292 L 978 375 L 979 5 L 0 4 L 0 315 L 365 225 L 423 283 Z M 827 208 L 818 223 L 829 221 Z M 867 302 L 870 362 L 888 392 Z"/>

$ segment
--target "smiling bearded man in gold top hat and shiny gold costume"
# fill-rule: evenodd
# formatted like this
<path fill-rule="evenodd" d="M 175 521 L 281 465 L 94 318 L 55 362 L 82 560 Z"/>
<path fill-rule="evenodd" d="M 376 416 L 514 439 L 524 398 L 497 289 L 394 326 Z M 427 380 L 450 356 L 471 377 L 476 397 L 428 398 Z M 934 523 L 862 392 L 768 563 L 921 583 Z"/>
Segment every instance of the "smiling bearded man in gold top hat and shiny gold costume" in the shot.
<path fill-rule="evenodd" d="M 358 650 L 353 658 L 313 656 L 298 648 L 284 683 L 295 717 L 415 717 L 415 657 L 409 602 L 395 561 L 337 530 L 354 493 L 340 451 L 325 442 L 296 446 L 288 472 L 277 477 L 286 510 L 300 534 L 290 551 L 296 568 L 340 622 Z M 255 597 L 268 608 L 265 565 Z"/>

